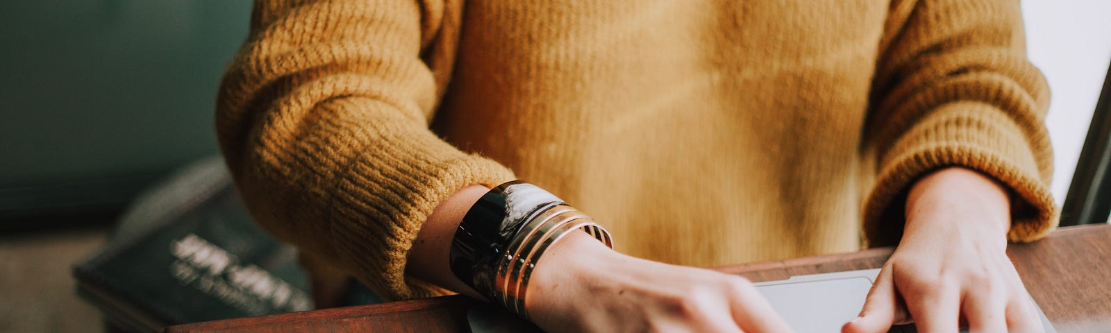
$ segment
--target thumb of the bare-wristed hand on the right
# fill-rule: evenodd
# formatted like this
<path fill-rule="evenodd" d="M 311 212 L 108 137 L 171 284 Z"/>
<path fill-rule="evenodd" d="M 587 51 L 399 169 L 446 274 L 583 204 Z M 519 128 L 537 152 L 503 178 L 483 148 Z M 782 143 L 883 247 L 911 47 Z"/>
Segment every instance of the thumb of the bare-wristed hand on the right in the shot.
<path fill-rule="evenodd" d="M 868 291 L 868 297 L 864 299 L 864 306 L 860 310 L 860 314 L 841 326 L 841 332 L 882 333 L 890 330 L 891 324 L 900 320 L 897 316 L 904 316 L 900 315 L 905 311 L 899 304 L 899 295 L 895 292 L 891 271 L 891 265 L 880 270 L 880 274 L 875 276 L 875 283 L 872 283 L 872 289 Z"/>

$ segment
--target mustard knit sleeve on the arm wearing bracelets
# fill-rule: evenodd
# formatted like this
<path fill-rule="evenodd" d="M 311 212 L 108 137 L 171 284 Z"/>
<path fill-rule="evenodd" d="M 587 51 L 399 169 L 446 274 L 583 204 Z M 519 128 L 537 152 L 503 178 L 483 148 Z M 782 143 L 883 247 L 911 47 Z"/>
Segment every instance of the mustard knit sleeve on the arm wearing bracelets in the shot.
<path fill-rule="evenodd" d="M 450 77 L 458 1 L 257 1 L 220 88 L 217 132 L 251 214 L 387 299 L 432 210 L 513 179 L 429 130 Z"/>

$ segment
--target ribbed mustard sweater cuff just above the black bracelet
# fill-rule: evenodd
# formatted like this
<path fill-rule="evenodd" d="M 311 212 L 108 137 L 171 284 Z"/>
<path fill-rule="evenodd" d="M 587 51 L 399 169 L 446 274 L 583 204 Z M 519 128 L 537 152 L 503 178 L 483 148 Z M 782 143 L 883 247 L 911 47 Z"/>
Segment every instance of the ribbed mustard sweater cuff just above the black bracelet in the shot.
<path fill-rule="evenodd" d="M 472 184 L 492 188 L 513 180 L 513 174 L 492 160 L 463 154 L 443 142 L 383 147 L 396 148 L 377 155 L 388 161 L 358 159 L 339 181 L 333 218 L 348 221 L 331 223 L 333 249 L 383 299 L 444 294 L 404 274 L 421 225 L 452 193 Z"/>

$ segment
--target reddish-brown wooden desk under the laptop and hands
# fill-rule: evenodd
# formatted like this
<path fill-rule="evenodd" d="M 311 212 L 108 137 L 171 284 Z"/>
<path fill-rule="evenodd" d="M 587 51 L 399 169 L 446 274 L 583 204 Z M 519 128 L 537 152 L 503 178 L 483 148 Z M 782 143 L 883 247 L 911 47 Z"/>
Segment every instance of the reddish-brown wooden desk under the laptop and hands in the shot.
<path fill-rule="evenodd" d="M 792 275 L 875 269 L 891 249 L 721 268 L 754 282 Z M 1027 289 L 1060 332 L 1111 331 L 1111 225 L 1062 228 L 1008 254 Z M 306 311 L 177 325 L 167 332 L 467 332 L 476 301 L 428 300 Z"/>

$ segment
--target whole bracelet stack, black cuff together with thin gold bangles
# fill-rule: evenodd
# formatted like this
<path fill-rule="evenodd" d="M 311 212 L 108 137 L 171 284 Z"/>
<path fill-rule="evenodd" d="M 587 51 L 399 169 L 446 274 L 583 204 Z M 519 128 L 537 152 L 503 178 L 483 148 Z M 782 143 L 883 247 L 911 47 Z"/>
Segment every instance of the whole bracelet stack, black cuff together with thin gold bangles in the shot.
<path fill-rule="evenodd" d="M 492 302 L 528 317 L 529 278 L 551 244 L 582 229 L 613 248 L 609 232 L 540 188 L 501 184 L 463 216 L 451 242 L 452 273 Z"/>

